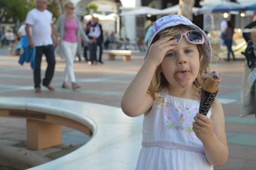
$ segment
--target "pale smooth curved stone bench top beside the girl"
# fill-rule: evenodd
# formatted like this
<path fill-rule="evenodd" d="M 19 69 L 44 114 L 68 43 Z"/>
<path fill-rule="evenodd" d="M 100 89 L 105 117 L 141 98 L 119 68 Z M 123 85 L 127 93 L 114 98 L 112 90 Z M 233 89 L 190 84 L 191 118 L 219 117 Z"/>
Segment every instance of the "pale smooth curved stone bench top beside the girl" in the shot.
<path fill-rule="evenodd" d="M 29 170 L 135 169 L 141 148 L 143 116 L 127 117 L 120 108 L 113 106 L 48 98 L 0 97 L 1 116 L 4 116 L 3 110 L 62 117 L 90 130 L 84 133 L 91 132 L 91 139 L 82 147 Z"/>

